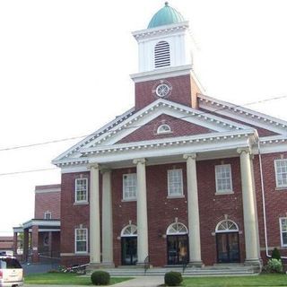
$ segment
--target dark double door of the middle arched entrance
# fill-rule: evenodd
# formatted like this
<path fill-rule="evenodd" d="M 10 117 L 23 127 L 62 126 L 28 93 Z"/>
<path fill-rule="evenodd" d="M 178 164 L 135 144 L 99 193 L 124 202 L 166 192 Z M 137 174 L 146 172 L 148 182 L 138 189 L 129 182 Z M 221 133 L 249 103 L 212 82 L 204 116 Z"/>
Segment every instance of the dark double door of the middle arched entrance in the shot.
<path fill-rule="evenodd" d="M 188 262 L 187 235 L 168 235 L 168 265 L 183 265 Z"/>

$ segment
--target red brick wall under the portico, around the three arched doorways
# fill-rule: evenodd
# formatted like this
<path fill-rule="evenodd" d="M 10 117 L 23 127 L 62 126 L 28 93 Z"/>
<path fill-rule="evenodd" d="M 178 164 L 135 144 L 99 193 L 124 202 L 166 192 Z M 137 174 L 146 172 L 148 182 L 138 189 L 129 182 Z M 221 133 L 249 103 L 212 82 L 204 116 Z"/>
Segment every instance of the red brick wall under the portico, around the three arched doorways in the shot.
<path fill-rule="evenodd" d="M 221 161 L 197 162 L 202 257 L 206 265 L 216 263 L 216 242 L 212 232 L 217 223 L 224 220 L 224 214 L 228 214 L 228 218 L 236 222 L 239 225 L 239 230 L 243 231 L 239 235 L 241 261 L 244 261 L 245 258 L 239 158 L 227 159 L 224 160 L 224 163 L 231 164 L 234 195 L 215 196 L 214 165 L 221 164 Z M 174 168 L 183 170 L 184 198 L 167 198 L 167 170 Z M 128 172 L 135 172 L 135 169 L 113 170 L 112 176 L 116 265 L 120 265 L 121 261 L 121 242 L 117 239 L 120 237 L 120 231 L 130 220 L 136 224 L 135 202 L 122 202 L 122 177 Z M 146 168 L 146 178 L 149 254 L 152 265 L 162 266 L 167 264 L 167 239 L 162 235 L 166 234 L 167 228 L 175 222 L 175 218 L 178 218 L 178 222 L 188 225 L 186 163 L 149 166 Z"/>

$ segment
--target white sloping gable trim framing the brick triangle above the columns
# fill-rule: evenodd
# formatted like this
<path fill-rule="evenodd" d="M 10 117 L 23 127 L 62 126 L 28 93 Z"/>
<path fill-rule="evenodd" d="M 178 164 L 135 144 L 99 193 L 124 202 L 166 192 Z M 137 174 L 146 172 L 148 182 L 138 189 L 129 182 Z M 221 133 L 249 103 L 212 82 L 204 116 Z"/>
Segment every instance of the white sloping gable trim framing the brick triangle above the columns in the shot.
<path fill-rule="evenodd" d="M 135 112 L 135 109 L 129 109 L 122 116 L 116 117 L 114 120 L 110 121 L 109 124 L 103 126 L 96 132 L 87 136 L 80 143 L 75 144 L 72 148 L 59 155 L 52 162 L 57 166 L 73 162 L 75 164 L 86 163 L 88 162 L 88 159 L 85 155 L 88 155 L 89 152 L 96 150 L 103 151 L 106 149 L 110 150 L 113 146 L 118 145 L 118 142 L 127 135 L 131 135 L 137 129 L 148 125 L 152 119 L 161 115 L 168 115 L 190 124 L 203 126 L 204 128 L 213 131 L 215 134 L 222 133 L 224 136 L 226 136 L 225 134 L 235 135 L 239 132 L 239 134 L 244 134 L 244 131 L 254 131 L 254 129 L 249 126 L 233 122 L 230 119 L 218 117 L 198 109 L 192 109 L 170 100 L 159 99 L 137 112 Z M 213 135 L 211 136 L 214 136 L 214 133 L 212 133 Z M 195 137 L 196 135 L 189 136 Z M 129 143 L 120 144 L 130 145 Z M 121 148 L 123 147 L 119 147 L 119 149 Z"/>

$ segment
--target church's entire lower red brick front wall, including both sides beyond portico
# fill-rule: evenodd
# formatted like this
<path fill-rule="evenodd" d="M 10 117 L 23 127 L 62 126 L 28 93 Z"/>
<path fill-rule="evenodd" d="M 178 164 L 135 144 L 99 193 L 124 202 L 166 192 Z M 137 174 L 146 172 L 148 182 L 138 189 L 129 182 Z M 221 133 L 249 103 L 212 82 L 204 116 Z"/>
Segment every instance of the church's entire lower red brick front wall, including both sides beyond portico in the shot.
<path fill-rule="evenodd" d="M 270 247 L 280 247 L 279 217 L 286 216 L 287 189 L 275 190 L 274 159 L 280 159 L 281 153 L 262 155 L 263 173 L 265 182 L 265 203 L 268 226 L 268 239 Z M 284 152 L 287 158 L 287 152 Z M 215 195 L 215 172 L 214 166 L 230 164 L 232 170 L 232 185 L 234 194 Z M 167 187 L 167 170 L 177 168 L 183 170 L 184 198 L 170 199 Z M 239 157 L 197 161 L 197 184 L 200 213 L 200 230 L 202 244 L 202 259 L 205 265 L 216 263 L 216 237 L 213 232 L 218 222 L 224 220 L 224 214 L 228 219 L 239 226 L 240 260 L 245 260 L 244 220 L 242 207 L 242 192 L 240 181 Z M 262 212 L 261 181 L 258 157 L 254 159 L 255 185 L 257 196 L 257 213 L 260 234 L 260 247 L 265 248 L 264 223 Z M 121 230 L 129 224 L 136 224 L 136 203 L 122 200 L 123 174 L 135 173 L 135 168 L 112 170 L 112 207 L 114 229 L 114 262 L 121 265 Z M 74 253 L 74 228 L 79 224 L 89 227 L 89 205 L 74 205 L 74 178 L 80 173 L 62 175 L 62 237 L 61 252 Z M 89 178 L 89 173 L 83 173 Z M 149 254 L 152 265 L 167 264 L 167 239 L 168 226 L 175 222 L 187 224 L 187 176 L 186 163 L 165 164 L 160 166 L 147 166 L 147 208 L 149 228 Z M 285 252 L 285 251 L 284 251 Z M 283 252 L 283 254 L 284 254 Z M 285 254 L 287 255 L 287 254 Z M 262 252 L 264 257 L 264 251 Z M 66 261 L 72 257 L 66 257 Z M 73 257 L 75 261 L 88 262 L 89 257 Z M 65 261 L 65 260 L 64 260 Z"/>

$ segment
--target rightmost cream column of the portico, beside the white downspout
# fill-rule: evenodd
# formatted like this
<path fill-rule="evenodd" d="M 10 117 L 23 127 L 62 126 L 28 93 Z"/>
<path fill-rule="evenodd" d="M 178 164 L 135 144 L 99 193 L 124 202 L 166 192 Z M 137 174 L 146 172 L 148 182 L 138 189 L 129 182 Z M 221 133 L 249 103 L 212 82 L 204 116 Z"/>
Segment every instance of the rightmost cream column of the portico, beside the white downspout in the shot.
<path fill-rule="evenodd" d="M 241 186 L 243 199 L 243 217 L 246 263 L 259 263 L 257 252 L 257 213 L 256 196 L 253 190 L 250 150 L 238 149 L 240 154 Z"/>

